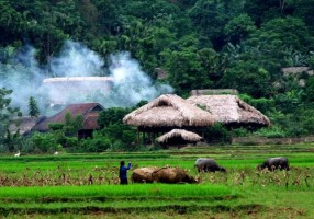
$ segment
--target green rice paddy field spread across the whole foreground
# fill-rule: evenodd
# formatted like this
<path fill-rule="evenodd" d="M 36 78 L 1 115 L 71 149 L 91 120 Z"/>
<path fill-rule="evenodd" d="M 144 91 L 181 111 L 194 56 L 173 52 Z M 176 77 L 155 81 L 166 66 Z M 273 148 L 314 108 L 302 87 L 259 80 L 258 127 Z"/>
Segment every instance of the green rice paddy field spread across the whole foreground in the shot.
<path fill-rule="evenodd" d="M 270 157 L 291 170 L 257 171 Z M 198 173 L 198 158 L 227 172 Z M 119 185 L 121 160 L 183 168 L 199 183 Z M 313 197 L 313 143 L 0 157 L 0 218 L 314 218 Z"/>

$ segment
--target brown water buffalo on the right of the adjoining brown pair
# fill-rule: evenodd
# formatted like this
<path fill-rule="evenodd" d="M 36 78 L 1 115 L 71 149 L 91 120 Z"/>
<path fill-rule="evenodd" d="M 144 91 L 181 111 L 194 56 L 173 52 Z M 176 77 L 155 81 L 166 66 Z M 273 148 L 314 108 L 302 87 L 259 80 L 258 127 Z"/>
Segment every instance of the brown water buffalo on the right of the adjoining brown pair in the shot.
<path fill-rule="evenodd" d="M 158 183 L 198 183 L 183 169 L 180 168 L 162 168 L 153 172 L 154 182 Z"/>

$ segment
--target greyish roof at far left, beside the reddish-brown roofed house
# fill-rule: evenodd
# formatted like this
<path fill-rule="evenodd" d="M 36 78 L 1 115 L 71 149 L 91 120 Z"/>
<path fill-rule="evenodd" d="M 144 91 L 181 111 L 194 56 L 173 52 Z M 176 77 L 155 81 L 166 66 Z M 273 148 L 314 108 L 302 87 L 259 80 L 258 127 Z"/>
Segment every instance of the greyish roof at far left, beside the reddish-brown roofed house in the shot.
<path fill-rule="evenodd" d="M 19 118 L 15 118 L 9 127 L 9 130 L 12 134 L 20 132 L 21 135 L 27 135 L 33 130 L 33 128 L 36 126 L 36 124 L 44 120 L 44 116 L 38 117 L 31 117 L 31 116 L 22 116 Z"/>

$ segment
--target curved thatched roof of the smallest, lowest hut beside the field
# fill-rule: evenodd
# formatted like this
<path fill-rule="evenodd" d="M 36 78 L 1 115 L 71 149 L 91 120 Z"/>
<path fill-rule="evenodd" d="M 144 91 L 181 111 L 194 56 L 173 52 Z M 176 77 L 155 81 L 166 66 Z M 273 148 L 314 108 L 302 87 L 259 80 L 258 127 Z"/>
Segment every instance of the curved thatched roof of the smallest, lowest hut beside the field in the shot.
<path fill-rule="evenodd" d="M 181 138 L 182 140 L 187 142 L 197 142 L 202 139 L 201 136 L 192 131 L 187 131 L 184 129 L 172 129 L 171 131 L 157 138 L 157 141 L 159 143 L 167 143 L 172 138 Z"/>

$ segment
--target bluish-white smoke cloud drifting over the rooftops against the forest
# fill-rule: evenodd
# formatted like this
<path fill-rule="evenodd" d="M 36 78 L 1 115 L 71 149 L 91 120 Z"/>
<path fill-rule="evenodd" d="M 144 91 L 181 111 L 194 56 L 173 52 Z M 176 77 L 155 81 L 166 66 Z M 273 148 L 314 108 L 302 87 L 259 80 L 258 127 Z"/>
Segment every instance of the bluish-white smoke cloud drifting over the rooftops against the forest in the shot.
<path fill-rule="evenodd" d="M 19 106 L 24 115 L 29 111 L 29 99 L 34 96 L 42 114 L 47 105 L 60 100 L 66 106 L 70 103 L 98 102 L 104 107 L 128 107 L 142 100 L 150 101 L 173 89 L 166 84 L 154 84 L 150 77 L 141 69 L 141 65 L 131 58 L 130 53 L 110 56 L 105 67 L 102 57 L 80 43 L 68 41 L 58 57 L 44 67 L 35 59 L 36 50 L 30 46 L 18 53 L 8 64 L 0 62 L 0 87 L 13 90 L 12 104 Z M 1 58 L 1 57 L 0 57 Z M 63 89 L 43 85 L 49 77 L 96 77 L 112 78 L 111 89 L 103 84 L 82 82 L 66 84 Z"/>

